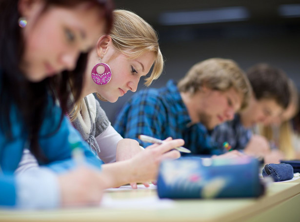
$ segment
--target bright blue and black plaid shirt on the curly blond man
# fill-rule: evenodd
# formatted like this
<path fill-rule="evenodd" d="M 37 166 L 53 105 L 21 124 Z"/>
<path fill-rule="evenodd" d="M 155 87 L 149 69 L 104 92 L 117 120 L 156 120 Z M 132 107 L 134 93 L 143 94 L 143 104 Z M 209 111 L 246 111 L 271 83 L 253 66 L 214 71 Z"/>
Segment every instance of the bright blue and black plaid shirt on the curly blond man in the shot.
<path fill-rule="evenodd" d="M 114 125 L 124 138 L 138 140 L 140 134 L 159 138 L 183 139 L 193 154 L 219 154 L 216 144 L 201 123 L 191 124 L 175 81 L 160 89 L 149 88 L 136 93 L 120 111 Z"/>

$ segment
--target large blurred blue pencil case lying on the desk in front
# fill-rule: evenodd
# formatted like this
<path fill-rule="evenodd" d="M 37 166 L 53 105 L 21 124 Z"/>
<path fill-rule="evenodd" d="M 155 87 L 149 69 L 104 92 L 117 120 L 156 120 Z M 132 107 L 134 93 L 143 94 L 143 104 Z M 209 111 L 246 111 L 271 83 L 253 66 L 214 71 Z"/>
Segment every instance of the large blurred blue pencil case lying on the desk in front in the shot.
<path fill-rule="evenodd" d="M 264 187 L 259 178 L 259 161 L 253 158 L 180 158 L 160 164 L 160 198 L 250 198 L 259 197 Z"/>

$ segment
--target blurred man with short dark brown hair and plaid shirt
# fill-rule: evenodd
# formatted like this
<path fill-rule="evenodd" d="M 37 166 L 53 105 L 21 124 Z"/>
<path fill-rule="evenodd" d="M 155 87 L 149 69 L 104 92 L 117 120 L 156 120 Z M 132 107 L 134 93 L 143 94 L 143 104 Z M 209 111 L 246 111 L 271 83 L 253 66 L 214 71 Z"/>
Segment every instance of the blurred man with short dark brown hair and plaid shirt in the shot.
<path fill-rule="evenodd" d="M 264 157 L 266 163 L 279 162 L 283 158 L 282 154 L 271 152 L 267 139 L 253 134 L 252 129 L 258 123 L 265 124 L 280 116 L 288 107 L 288 78 L 282 70 L 265 63 L 252 66 L 246 74 L 252 87 L 249 106 L 237 114 L 233 121 L 216 127 L 213 138 L 220 146 L 227 141 L 232 149 Z"/>

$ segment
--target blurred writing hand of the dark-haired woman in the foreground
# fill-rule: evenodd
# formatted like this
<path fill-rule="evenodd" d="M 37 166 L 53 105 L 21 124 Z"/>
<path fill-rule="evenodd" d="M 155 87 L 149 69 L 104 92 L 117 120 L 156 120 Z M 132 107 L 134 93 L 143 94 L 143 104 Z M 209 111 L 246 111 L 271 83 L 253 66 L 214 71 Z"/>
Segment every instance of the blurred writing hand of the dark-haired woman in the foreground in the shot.
<path fill-rule="evenodd" d="M 101 171 L 80 166 L 58 177 L 62 206 L 99 204 L 105 181 Z"/>

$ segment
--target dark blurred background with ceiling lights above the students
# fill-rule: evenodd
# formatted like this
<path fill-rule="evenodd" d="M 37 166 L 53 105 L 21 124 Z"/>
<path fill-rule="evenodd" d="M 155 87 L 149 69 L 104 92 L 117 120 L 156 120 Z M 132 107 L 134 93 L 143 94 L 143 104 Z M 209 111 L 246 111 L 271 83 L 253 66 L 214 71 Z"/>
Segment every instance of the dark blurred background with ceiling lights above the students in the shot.
<path fill-rule="evenodd" d="M 300 0 L 114 0 L 158 32 L 165 68 L 150 87 L 179 80 L 198 61 L 233 59 L 247 70 L 258 62 L 283 69 L 300 89 Z M 132 30 L 134 32 L 134 30 Z M 138 91 L 144 89 L 141 79 Z M 100 101 L 114 123 L 125 101 Z"/>

